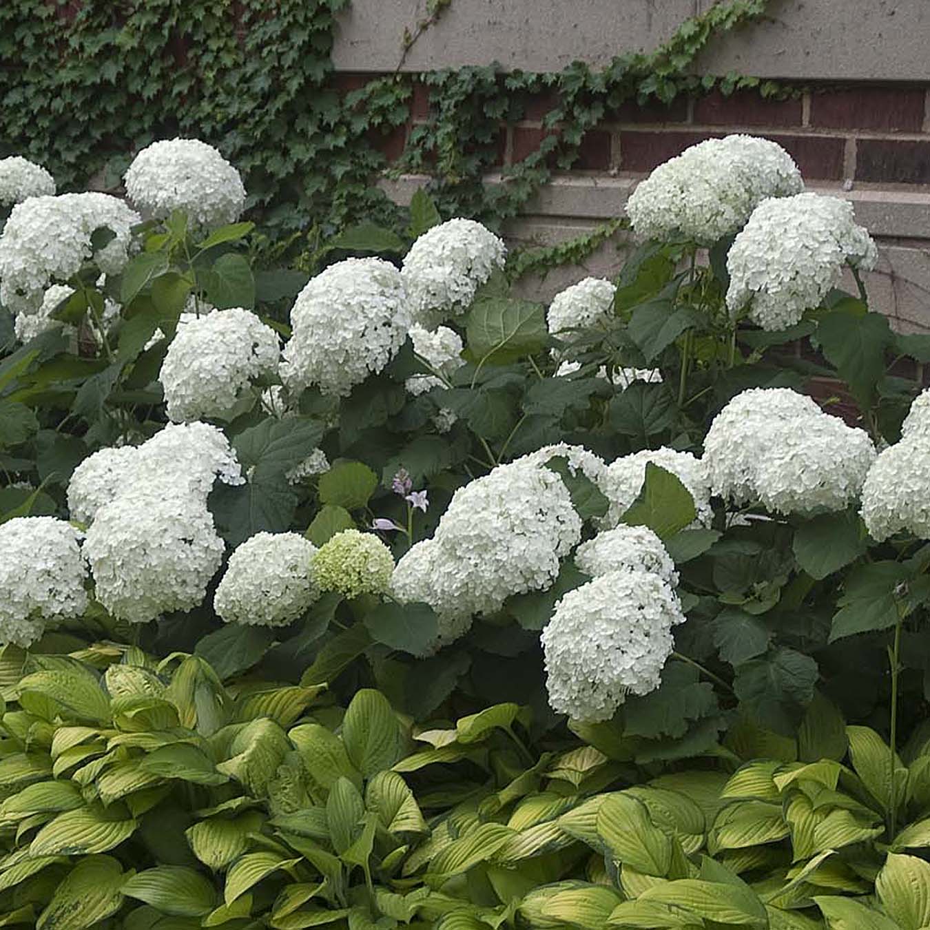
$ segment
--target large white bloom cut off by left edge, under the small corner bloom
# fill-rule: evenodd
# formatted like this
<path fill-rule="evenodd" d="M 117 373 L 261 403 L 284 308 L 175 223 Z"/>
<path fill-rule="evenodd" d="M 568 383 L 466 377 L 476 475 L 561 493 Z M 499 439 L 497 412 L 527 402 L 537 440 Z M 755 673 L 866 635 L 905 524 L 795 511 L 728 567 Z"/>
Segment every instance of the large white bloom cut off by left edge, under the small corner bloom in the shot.
<path fill-rule="evenodd" d="M 138 213 L 106 193 L 62 193 L 17 204 L 0 234 L 0 302 L 12 312 L 35 312 L 48 286 L 66 283 L 91 257 L 104 274 L 118 274 L 139 221 Z M 115 237 L 95 253 L 91 237 L 101 228 Z"/>

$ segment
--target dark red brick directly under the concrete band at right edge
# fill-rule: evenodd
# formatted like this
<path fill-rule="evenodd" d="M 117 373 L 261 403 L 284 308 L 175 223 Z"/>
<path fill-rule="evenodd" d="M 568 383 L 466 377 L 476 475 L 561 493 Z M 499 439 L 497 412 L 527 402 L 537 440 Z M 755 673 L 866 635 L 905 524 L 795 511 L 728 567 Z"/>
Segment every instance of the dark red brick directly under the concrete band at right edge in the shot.
<path fill-rule="evenodd" d="M 920 132 L 922 87 L 848 87 L 811 95 L 811 126 Z"/>

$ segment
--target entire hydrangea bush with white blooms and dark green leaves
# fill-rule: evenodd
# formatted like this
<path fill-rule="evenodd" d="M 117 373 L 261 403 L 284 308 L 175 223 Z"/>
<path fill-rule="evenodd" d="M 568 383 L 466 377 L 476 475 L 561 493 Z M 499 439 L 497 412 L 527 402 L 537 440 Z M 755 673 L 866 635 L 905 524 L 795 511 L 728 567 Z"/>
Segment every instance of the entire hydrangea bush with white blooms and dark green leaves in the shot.
<path fill-rule="evenodd" d="M 193 654 L 237 699 L 377 686 L 433 761 L 479 768 L 441 722 L 513 707 L 591 791 L 772 756 L 781 798 L 779 766 L 821 758 L 807 731 L 845 720 L 886 740 L 892 787 L 867 800 L 887 846 L 917 803 L 891 773 L 920 755 L 930 669 L 930 405 L 893 363 L 930 361 L 930 338 L 869 306 L 851 207 L 802 193 L 775 143 L 700 143 L 631 198 L 615 278 L 546 307 L 512 294 L 496 235 L 424 193 L 405 255 L 360 227 L 312 276 L 255 268 L 218 158 L 155 143 L 126 176 L 140 214 L 35 191 L 0 234 L 0 644 L 69 668 L 100 642 Z M 224 758 L 247 768 L 253 737 Z M 498 780 L 536 764 L 522 746 Z M 293 791 L 275 820 L 307 809 Z M 781 842 L 794 821 L 770 813 Z M 274 826 L 312 840 L 301 817 Z M 711 853 L 743 848 L 724 826 Z M 640 871 L 697 881 L 660 865 Z M 653 894 L 631 882 L 612 907 Z"/>

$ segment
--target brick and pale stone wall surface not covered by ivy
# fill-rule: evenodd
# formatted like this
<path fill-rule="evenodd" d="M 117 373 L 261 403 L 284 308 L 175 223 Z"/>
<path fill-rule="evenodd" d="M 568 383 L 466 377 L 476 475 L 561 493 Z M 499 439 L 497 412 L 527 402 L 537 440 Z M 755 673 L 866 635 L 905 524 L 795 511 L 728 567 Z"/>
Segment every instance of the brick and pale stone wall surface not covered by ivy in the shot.
<path fill-rule="evenodd" d="M 650 49 L 711 0 L 452 0 L 401 64 L 402 37 L 425 0 L 352 0 L 335 61 L 352 86 L 363 75 L 486 65 L 559 71 L 573 60 L 601 66 Z M 625 104 L 582 141 L 577 170 L 557 176 L 510 225 L 513 244 L 552 245 L 622 214 L 638 179 L 695 142 L 730 132 L 776 140 L 817 190 L 849 197 L 880 246 L 870 276 L 875 303 L 893 325 L 930 330 L 930 0 L 770 0 L 770 17 L 728 33 L 698 63 L 701 73 L 780 78 L 787 100 L 755 91 L 680 98 L 669 107 Z M 526 118 L 501 126 L 499 168 L 543 139 L 552 98 L 531 100 Z M 431 119 L 426 88 L 412 125 Z M 403 151 L 404 134 L 389 155 Z M 426 179 L 388 185 L 403 202 Z M 498 182 L 489 178 L 489 183 Z M 548 298 L 585 274 L 618 268 L 629 239 L 618 236 L 583 268 L 529 287 Z"/>

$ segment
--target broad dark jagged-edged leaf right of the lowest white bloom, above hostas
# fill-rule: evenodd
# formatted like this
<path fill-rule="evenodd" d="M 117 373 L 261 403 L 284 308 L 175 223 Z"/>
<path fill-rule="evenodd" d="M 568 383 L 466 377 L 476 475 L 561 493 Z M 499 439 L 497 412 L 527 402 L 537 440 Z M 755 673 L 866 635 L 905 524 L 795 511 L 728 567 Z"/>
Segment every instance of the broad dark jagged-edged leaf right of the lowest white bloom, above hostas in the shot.
<path fill-rule="evenodd" d="M 754 658 L 737 669 L 733 690 L 741 708 L 767 730 L 793 737 L 814 699 L 817 662 L 787 647 Z"/>

